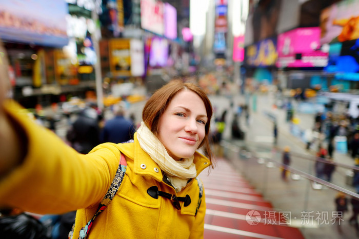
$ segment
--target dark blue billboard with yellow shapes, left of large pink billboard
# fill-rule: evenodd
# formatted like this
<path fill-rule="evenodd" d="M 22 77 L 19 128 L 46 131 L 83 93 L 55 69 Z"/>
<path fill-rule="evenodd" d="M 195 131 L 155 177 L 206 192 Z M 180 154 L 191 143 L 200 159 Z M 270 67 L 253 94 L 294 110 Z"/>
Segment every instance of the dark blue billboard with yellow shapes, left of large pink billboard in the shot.
<path fill-rule="evenodd" d="M 245 50 L 245 64 L 248 66 L 274 66 L 277 61 L 276 38 L 267 38 Z"/>

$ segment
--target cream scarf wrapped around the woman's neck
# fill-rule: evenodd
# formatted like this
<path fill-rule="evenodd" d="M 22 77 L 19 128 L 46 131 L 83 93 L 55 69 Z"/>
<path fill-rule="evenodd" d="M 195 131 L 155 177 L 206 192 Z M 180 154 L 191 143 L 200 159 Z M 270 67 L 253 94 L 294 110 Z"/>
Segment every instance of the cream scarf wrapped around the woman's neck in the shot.
<path fill-rule="evenodd" d="M 137 140 L 139 146 L 166 173 L 176 192 L 186 186 L 189 178 L 197 176 L 196 166 L 193 163 L 194 156 L 175 161 L 144 122 L 141 122 L 141 126 L 137 130 Z"/>

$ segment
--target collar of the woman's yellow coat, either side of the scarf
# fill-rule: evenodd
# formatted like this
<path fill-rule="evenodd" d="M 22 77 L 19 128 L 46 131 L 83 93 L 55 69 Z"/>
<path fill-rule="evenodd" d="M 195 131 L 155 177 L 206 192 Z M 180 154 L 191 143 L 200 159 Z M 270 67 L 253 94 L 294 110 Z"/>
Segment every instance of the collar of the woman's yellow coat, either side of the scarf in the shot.
<path fill-rule="evenodd" d="M 136 174 L 148 175 L 154 177 L 158 182 L 162 182 L 163 175 L 162 170 L 159 166 L 152 160 L 150 155 L 148 155 L 142 148 L 139 146 L 137 140 L 137 132 L 134 134 L 134 142 L 131 144 L 122 144 L 121 152 L 126 156 L 133 158 L 133 171 Z M 193 163 L 196 165 L 197 176 L 205 168 L 211 165 L 207 157 L 201 153 L 194 153 Z"/>

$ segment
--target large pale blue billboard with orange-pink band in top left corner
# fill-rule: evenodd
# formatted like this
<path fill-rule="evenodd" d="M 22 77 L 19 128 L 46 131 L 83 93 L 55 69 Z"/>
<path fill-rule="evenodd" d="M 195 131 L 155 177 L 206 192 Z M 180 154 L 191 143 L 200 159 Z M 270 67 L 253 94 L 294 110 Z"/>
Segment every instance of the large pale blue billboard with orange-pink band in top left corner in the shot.
<path fill-rule="evenodd" d="M 63 47 L 68 43 L 67 13 L 63 0 L 2 1 L 0 37 L 3 41 Z"/>

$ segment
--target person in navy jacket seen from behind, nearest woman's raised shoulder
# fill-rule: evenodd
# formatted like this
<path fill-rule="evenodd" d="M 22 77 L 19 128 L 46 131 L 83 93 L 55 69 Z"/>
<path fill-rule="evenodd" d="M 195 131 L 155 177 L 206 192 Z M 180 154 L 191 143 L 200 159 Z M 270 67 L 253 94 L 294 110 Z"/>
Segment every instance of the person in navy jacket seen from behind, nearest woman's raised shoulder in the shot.
<path fill-rule="evenodd" d="M 123 143 L 133 139 L 136 130 L 132 121 L 125 118 L 125 106 L 117 104 L 113 106 L 114 117 L 105 122 L 104 128 L 101 130 L 101 143 Z"/>

